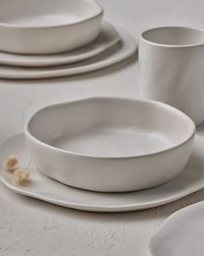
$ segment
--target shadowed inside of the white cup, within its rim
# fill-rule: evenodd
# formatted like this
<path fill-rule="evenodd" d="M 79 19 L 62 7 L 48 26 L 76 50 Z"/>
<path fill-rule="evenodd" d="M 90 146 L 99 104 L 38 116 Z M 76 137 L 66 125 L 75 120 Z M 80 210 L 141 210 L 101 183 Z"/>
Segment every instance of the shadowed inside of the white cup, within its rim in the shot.
<path fill-rule="evenodd" d="M 185 27 L 163 27 L 143 32 L 142 38 L 163 45 L 194 45 L 204 43 L 204 32 Z"/>

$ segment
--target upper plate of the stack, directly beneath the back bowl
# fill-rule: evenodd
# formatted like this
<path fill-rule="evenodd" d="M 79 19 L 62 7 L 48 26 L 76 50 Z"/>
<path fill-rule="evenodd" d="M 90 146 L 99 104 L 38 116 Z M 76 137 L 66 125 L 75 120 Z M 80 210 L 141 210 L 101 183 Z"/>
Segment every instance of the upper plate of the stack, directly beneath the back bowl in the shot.
<path fill-rule="evenodd" d="M 19 67 L 48 67 L 80 62 L 92 56 L 99 55 L 106 49 L 118 43 L 118 31 L 110 23 L 103 23 L 99 36 L 80 49 L 55 55 L 15 55 L 0 52 L 0 64 Z"/>

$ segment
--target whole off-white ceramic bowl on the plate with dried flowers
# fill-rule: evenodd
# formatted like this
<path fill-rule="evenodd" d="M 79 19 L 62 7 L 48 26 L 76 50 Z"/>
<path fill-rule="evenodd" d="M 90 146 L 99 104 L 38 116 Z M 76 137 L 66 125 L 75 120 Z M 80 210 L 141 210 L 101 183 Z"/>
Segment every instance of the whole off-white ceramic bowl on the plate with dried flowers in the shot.
<path fill-rule="evenodd" d="M 194 121 L 162 102 L 105 97 L 42 108 L 25 127 L 43 174 L 103 192 L 172 180 L 188 162 L 194 132 Z"/>

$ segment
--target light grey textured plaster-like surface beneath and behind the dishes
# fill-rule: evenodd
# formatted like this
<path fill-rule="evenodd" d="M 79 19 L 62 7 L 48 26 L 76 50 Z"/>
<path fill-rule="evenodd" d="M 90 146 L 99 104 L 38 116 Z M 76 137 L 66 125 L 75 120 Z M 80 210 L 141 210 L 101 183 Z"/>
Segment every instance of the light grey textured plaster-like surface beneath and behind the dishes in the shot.
<path fill-rule="evenodd" d="M 105 18 L 129 31 L 161 25 L 204 29 L 202 0 L 100 0 Z M 0 3 L 1 4 L 1 3 Z M 0 81 L 0 141 L 22 131 L 42 106 L 84 96 L 138 96 L 135 57 L 88 75 L 43 81 Z M 83 213 L 32 200 L 0 184 L 0 255 L 142 255 L 171 213 L 204 199 L 204 191 L 163 207 L 134 213 Z"/>

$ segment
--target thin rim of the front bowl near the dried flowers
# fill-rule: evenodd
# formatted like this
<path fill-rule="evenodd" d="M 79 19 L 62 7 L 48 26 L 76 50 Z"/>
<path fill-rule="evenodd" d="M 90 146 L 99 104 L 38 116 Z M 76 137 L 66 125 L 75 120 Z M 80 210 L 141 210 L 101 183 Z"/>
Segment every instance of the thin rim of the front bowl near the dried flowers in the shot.
<path fill-rule="evenodd" d="M 188 137 L 184 141 L 182 141 L 178 144 L 175 144 L 175 146 L 173 146 L 173 147 L 169 147 L 169 148 L 166 148 L 166 149 L 163 149 L 163 150 L 159 150 L 159 151 L 156 151 L 156 152 L 153 152 L 153 153 L 150 153 L 150 154 L 110 156 L 110 157 L 109 156 L 80 154 L 80 153 L 77 153 L 77 152 L 74 153 L 74 152 L 69 151 L 69 150 L 57 148 L 57 147 L 54 147 L 52 145 L 49 145 L 48 143 L 45 143 L 45 142 L 37 139 L 29 131 L 29 124 L 33 120 L 35 115 L 38 115 L 41 111 L 44 111 L 48 108 L 49 109 L 50 108 L 61 108 L 62 106 L 70 105 L 70 104 L 74 104 L 74 103 L 78 103 L 78 102 L 104 101 L 104 100 L 107 100 L 107 101 L 124 101 L 124 102 L 144 102 L 144 103 L 147 103 L 147 104 L 150 103 L 150 104 L 153 104 L 153 105 L 161 106 L 162 108 L 166 108 L 166 109 L 169 109 L 171 111 L 174 111 L 176 115 L 181 115 L 184 119 L 186 119 L 186 121 L 188 122 L 188 126 L 191 126 L 191 131 L 189 132 Z M 40 108 L 39 110 L 37 110 L 34 115 L 31 115 L 29 120 L 26 121 L 26 123 L 24 125 L 24 135 L 26 136 L 26 138 L 29 138 L 29 140 L 34 141 L 35 144 L 41 146 L 42 148 L 46 148 L 50 151 L 58 152 L 60 154 L 66 154 L 66 155 L 71 154 L 71 155 L 74 155 L 74 156 L 90 158 L 90 159 L 101 159 L 101 160 L 119 160 L 119 159 L 124 160 L 124 159 L 136 159 L 136 158 L 138 159 L 138 158 L 153 156 L 153 155 L 156 155 L 156 154 L 164 154 L 164 153 L 167 153 L 171 150 L 174 150 L 175 148 L 179 148 L 182 145 L 184 145 L 185 143 L 187 143 L 188 141 L 190 141 L 194 137 L 195 131 L 196 131 L 196 126 L 194 124 L 194 121 L 188 115 L 183 113 L 181 110 L 179 110 L 175 107 L 172 107 L 172 106 L 170 106 L 166 103 L 152 101 L 152 100 L 141 100 L 141 99 L 123 98 L 123 97 L 110 97 L 110 96 L 97 96 L 97 97 L 86 97 L 86 98 L 83 97 L 83 98 L 71 100 L 71 101 L 68 101 L 68 102 L 61 102 L 61 103 L 48 105 L 44 108 Z"/>

